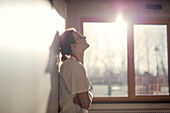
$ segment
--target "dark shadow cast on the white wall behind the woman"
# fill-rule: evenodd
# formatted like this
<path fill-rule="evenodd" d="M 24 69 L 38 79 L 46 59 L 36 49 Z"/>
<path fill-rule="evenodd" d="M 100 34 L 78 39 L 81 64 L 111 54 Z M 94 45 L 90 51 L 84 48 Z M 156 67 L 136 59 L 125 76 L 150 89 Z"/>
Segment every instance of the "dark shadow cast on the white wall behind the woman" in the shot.
<path fill-rule="evenodd" d="M 49 95 L 47 112 L 58 113 L 58 66 L 59 66 L 59 33 L 57 31 L 50 46 L 50 55 L 46 72 L 51 75 L 51 91 Z"/>

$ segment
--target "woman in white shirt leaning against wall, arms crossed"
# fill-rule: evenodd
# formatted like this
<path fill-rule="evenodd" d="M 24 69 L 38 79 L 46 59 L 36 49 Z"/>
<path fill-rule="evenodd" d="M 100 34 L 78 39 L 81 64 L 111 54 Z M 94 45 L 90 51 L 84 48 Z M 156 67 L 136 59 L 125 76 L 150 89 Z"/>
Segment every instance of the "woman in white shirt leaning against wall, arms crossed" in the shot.
<path fill-rule="evenodd" d="M 88 113 L 92 102 L 90 82 L 83 64 L 84 51 L 89 47 L 86 37 L 75 29 L 60 36 L 62 65 L 59 81 L 60 113 Z"/>

